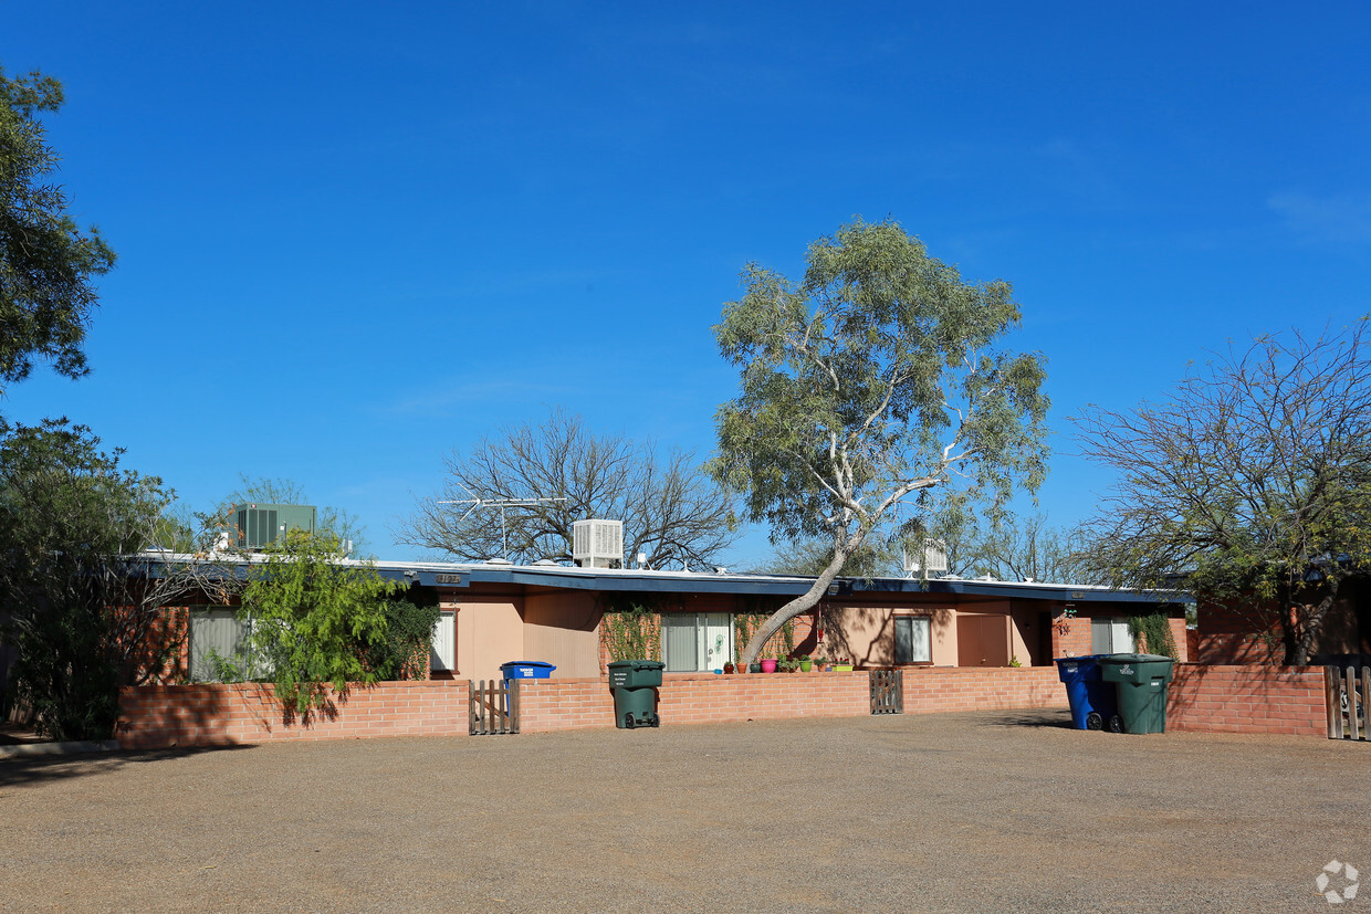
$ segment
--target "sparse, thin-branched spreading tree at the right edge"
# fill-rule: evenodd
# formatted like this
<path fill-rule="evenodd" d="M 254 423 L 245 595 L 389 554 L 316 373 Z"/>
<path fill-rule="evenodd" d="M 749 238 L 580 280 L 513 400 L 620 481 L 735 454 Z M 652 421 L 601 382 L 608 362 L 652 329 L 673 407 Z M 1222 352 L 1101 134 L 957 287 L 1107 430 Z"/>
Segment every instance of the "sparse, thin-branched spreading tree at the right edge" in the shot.
<path fill-rule="evenodd" d="M 1371 567 L 1367 319 L 1260 337 L 1157 403 L 1076 418 L 1117 481 L 1090 559 L 1121 585 L 1191 589 L 1308 662 L 1346 580 Z"/>

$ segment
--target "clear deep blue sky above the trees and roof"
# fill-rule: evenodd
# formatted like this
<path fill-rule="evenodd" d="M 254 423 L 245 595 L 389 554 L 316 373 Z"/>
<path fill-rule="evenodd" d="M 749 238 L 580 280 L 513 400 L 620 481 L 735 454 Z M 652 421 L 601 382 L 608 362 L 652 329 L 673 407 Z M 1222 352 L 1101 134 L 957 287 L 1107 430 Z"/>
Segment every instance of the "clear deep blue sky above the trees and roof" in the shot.
<path fill-rule="evenodd" d="M 1116 5 L 0 3 L 119 252 L 92 374 L 0 411 L 193 506 L 295 480 L 417 558 L 443 456 L 550 407 L 707 456 L 743 264 L 893 217 L 1015 285 L 1073 523 L 1109 478 L 1068 415 L 1371 311 L 1371 7 Z"/>

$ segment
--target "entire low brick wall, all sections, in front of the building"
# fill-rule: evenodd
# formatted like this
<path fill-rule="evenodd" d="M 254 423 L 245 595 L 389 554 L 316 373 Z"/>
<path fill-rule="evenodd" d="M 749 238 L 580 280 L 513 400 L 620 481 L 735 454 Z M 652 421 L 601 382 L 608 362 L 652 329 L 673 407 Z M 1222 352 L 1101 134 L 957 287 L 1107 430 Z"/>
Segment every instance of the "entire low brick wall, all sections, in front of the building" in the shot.
<path fill-rule="evenodd" d="M 672 673 L 659 691 L 664 725 L 869 714 L 865 670 L 714 676 Z M 1065 707 L 1056 667 L 905 670 L 905 713 Z M 465 736 L 466 680 L 355 688 L 332 713 L 287 719 L 270 685 L 147 685 L 119 695 L 125 748 L 236 745 L 369 736 Z M 603 678 L 524 680 L 521 730 L 614 726 Z M 1323 671 L 1315 667 L 1176 666 L 1168 729 L 1324 736 Z"/>

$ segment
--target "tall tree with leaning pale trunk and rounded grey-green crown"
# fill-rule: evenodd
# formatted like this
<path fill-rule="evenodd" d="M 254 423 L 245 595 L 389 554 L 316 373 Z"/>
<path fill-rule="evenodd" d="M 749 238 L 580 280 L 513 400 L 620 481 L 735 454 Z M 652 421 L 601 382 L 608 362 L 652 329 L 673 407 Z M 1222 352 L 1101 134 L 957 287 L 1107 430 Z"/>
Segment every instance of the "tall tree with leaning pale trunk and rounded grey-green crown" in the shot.
<path fill-rule="evenodd" d="M 994 348 L 1020 319 L 1009 284 L 964 282 L 898 223 L 820 238 L 798 285 L 755 263 L 743 285 L 714 328 L 742 392 L 718 410 L 713 471 L 773 540 L 829 544 L 814 585 L 753 634 L 750 663 L 873 533 L 946 514 L 994 525 L 1017 485 L 1035 489 L 1047 399 L 1041 356 Z M 910 496 L 914 517 L 895 522 Z"/>

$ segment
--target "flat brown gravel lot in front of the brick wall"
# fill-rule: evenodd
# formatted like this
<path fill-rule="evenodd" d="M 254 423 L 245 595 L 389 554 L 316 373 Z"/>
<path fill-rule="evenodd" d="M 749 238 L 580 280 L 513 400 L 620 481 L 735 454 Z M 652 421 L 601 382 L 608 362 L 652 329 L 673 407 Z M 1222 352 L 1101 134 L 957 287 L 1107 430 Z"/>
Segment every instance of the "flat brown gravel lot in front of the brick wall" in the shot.
<path fill-rule="evenodd" d="M 1323 911 L 1368 814 L 1371 744 L 1064 711 L 10 758 L 0 910 Z"/>

